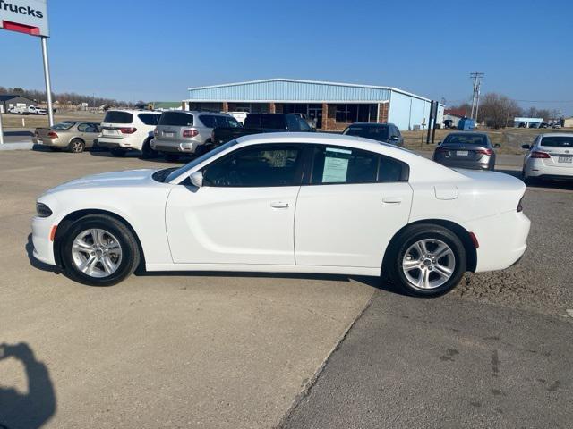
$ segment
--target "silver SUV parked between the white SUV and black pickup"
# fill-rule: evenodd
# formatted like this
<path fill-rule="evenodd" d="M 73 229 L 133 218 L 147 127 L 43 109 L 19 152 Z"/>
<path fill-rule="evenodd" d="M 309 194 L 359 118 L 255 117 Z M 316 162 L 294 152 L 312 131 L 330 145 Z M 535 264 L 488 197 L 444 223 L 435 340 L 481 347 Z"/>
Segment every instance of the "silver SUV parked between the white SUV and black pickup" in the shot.
<path fill-rule="evenodd" d="M 211 133 L 217 127 L 240 128 L 228 114 L 198 111 L 164 112 L 153 131 L 151 148 L 167 158 L 179 155 L 201 155 L 209 150 Z"/>

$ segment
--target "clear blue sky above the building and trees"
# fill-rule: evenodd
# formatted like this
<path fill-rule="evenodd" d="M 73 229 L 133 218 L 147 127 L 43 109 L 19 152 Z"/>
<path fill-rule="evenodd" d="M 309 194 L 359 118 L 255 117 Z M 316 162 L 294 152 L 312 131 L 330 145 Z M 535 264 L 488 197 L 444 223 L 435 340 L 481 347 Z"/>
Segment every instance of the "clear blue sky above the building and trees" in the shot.
<path fill-rule="evenodd" d="M 484 92 L 573 114 L 573 2 L 49 0 L 53 90 L 179 101 L 273 77 Z M 0 32 L 0 85 L 43 88 L 38 38 Z"/>

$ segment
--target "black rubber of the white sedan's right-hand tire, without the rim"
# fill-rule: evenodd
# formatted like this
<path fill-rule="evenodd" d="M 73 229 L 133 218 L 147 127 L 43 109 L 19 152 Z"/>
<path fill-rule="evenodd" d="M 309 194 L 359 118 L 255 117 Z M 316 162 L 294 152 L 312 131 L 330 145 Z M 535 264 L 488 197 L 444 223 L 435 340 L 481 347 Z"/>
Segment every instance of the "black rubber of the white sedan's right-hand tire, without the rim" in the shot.
<path fill-rule="evenodd" d="M 410 249 L 411 246 L 415 245 L 415 243 L 418 242 L 419 240 L 428 240 L 429 241 L 428 247 L 433 246 L 435 244 L 436 248 L 438 244 L 435 240 L 445 243 L 451 249 L 451 253 L 454 258 L 449 279 L 446 282 L 443 282 L 443 284 L 432 287 L 431 289 L 424 289 L 416 286 L 413 282 L 411 282 L 411 280 L 409 280 L 406 277 L 406 273 L 403 270 L 403 262 L 405 261 L 406 252 L 408 252 L 408 249 Z M 464 273 L 466 273 L 467 257 L 466 257 L 466 248 L 464 248 L 464 244 L 454 232 L 440 225 L 432 223 L 419 223 L 413 225 L 407 228 L 405 231 L 403 231 L 398 237 L 398 240 L 395 240 L 394 243 L 395 245 L 393 246 L 393 248 L 389 248 L 389 251 L 392 252 L 390 254 L 390 257 L 388 258 L 389 274 L 392 280 L 398 283 L 401 289 L 404 290 L 408 295 L 414 295 L 418 297 L 428 297 L 428 298 L 438 297 L 448 292 L 449 290 L 455 288 L 461 281 Z M 429 248 L 428 250 L 429 250 L 428 254 L 432 255 L 433 248 Z M 416 257 L 418 257 L 418 255 L 416 255 Z M 420 264 L 421 264 L 420 266 L 422 266 L 427 262 L 427 264 L 429 265 L 428 269 L 435 270 L 435 266 L 440 265 L 440 261 L 442 262 L 448 261 L 449 263 L 451 263 L 449 257 L 446 258 L 447 259 L 439 258 L 438 264 L 436 264 L 436 261 L 432 260 L 432 257 L 424 258 L 422 256 L 422 259 L 420 259 Z M 415 264 L 417 264 L 416 259 L 412 260 L 413 262 L 415 262 Z M 423 275 L 422 270 L 419 270 L 417 268 L 412 268 L 412 270 L 414 270 L 414 273 L 412 273 L 411 271 L 409 272 L 411 273 L 411 277 L 416 276 L 415 273 L 416 270 L 418 271 L 417 273 L 418 278 L 420 278 L 420 276 Z M 433 278 L 436 284 L 438 284 L 438 282 L 440 281 L 439 272 L 434 271 L 432 273 L 432 271 L 428 271 L 428 273 L 429 273 L 428 280 L 432 281 Z M 438 277 L 437 280 L 436 277 Z"/>

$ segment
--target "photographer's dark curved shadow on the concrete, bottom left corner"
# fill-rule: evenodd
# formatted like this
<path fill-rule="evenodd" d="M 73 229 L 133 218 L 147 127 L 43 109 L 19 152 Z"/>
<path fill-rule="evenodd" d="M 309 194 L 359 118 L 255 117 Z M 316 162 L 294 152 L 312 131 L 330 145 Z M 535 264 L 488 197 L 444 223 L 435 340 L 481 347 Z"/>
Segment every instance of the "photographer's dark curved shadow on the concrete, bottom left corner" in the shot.
<path fill-rule="evenodd" d="M 39 428 L 56 413 L 56 391 L 47 366 L 34 357 L 25 342 L 0 344 L 0 366 L 9 358 L 24 367 L 28 391 L 21 393 L 13 387 L 5 387 L 0 380 L 0 428 Z"/>

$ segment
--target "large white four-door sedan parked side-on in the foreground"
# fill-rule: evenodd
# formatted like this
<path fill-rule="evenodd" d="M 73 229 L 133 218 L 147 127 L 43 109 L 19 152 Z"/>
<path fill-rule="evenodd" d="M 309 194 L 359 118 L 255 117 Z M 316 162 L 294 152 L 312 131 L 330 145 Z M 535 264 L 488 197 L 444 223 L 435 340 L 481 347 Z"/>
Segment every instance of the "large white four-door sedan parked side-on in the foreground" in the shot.
<path fill-rule="evenodd" d="M 433 296 L 526 250 L 525 185 L 321 133 L 228 142 L 181 168 L 107 172 L 38 198 L 34 256 L 98 286 L 147 271 L 388 277 Z"/>

